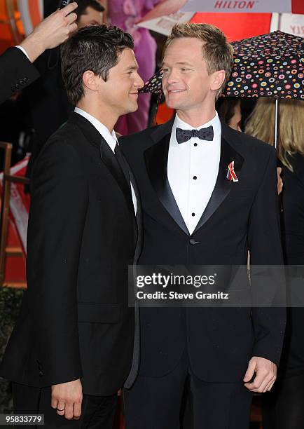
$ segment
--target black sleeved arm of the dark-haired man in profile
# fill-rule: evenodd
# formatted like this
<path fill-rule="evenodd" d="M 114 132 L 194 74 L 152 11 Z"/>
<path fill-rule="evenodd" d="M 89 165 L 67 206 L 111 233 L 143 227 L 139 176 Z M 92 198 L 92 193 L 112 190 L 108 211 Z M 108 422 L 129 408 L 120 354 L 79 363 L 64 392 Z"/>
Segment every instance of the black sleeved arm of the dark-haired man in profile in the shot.
<path fill-rule="evenodd" d="M 27 235 L 28 297 L 41 386 L 82 376 L 77 273 L 87 186 L 75 149 L 62 140 L 48 142 L 34 168 Z"/>

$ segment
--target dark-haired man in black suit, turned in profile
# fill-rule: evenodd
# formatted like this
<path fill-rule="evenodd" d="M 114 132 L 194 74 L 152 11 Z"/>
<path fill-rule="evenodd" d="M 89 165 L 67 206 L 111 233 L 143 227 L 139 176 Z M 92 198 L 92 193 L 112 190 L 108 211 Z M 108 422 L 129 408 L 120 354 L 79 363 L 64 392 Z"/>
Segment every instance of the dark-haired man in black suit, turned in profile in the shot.
<path fill-rule="evenodd" d="M 113 127 L 137 110 L 144 82 L 130 34 L 80 29 L 62 46 L 62 76 L 76 106 L 34 165 L 27 285 L 0 374 L 14 411 L 45 428 L 112 429 L 132 365 L 134 308 L 128 265 L 141 247 L 134 177 Z"/>

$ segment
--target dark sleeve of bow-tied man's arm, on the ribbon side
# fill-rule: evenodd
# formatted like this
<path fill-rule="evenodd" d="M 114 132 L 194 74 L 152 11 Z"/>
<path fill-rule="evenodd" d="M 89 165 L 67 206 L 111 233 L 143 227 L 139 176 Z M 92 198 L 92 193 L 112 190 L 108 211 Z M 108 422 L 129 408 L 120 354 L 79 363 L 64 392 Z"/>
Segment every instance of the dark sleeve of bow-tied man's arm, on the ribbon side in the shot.
<path fill-rule="evenodd" d="M 251 288 L 259 297 L 270 299 L 270 304 L 284 289 L 276 167 L 276 152 L 271 148 L 249 219 L 250 264 L 253 266 Z M 269 268 L 263 273 L 259 266 Z M 262 275 L 258 271 L 260 274 L 262 271 Z M 278 364 L 284 338 L 286 309 L 278 306 L 254 307 L 251 314 L 256 339 L 253 355 L 265 357 Z"/>

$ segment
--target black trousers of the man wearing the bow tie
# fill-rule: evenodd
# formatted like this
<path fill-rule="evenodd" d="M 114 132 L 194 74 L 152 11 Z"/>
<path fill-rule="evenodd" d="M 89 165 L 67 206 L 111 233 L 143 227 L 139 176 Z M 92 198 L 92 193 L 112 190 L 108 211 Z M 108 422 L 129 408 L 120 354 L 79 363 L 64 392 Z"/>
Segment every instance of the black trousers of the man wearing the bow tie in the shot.
<path fill-rule="evenodd" d="M 193 374 L 184 352 L 165 376 L 139 376 L 123 392 L 126 429 L 179 429 L 187 381 L 191 387 L 191 429 L 247 429 L 251 392 L 243 383 L 207 383 Z M 188 429 L 188 425 L 187 428 Z"/>

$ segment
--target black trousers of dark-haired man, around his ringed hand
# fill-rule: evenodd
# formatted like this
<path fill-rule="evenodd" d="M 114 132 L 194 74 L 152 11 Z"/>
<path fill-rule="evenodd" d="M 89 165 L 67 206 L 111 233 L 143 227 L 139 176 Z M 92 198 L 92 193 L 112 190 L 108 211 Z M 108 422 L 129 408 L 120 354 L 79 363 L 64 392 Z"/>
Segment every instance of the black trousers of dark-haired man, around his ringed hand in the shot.
<path fill-rule="evenodd" d="M 13 383 L 14 414 L 44 414 L 43 428 L 45 429 L 113 429 L 117 395 L 84 394 L 79 420 L 67 420 L 64 416 L 59 416 L 57 411 L 50 406 L 50 400 L 50 387 L 34 388 Z M 34 428 L 35 426 L 22 427 Z M 36 426 L 36 428 L 40 427 L 40 425 Z"/>

